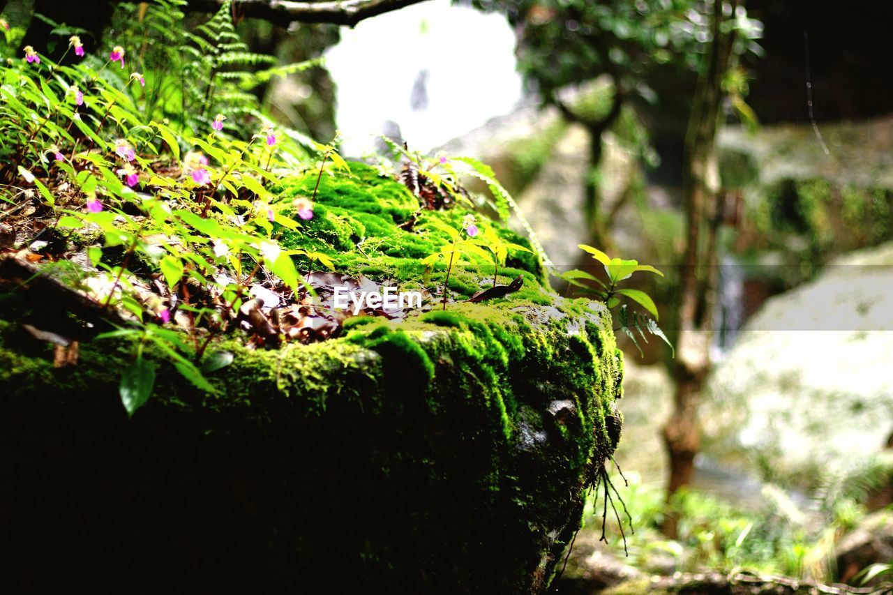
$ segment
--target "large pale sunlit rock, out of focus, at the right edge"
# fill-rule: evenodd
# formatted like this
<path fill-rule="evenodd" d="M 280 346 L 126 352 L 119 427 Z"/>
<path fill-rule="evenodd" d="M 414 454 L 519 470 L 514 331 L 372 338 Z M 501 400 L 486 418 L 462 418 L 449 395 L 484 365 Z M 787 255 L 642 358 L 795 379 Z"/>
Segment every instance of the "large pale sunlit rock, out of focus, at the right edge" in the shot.
<path fill-rule="evenodd" d="M 707 383 L 713 456 L 802 480 L 893 431 L 893 243 L 771 298 Z"/>

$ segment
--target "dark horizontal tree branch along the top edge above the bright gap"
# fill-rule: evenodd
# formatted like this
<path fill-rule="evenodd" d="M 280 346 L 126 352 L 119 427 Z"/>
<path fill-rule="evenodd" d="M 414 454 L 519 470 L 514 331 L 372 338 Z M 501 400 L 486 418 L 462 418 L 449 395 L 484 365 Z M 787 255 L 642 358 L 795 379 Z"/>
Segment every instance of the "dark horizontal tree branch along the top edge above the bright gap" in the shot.
<path fill-rule="evenodd" d="M 233 9 L 246 17 L 264 19 L 283 27 L 294 21 L 328 23 L 354 27 L 356 23 L 382 13 L 419 4 L 425 0 L 324 0 L 292 2 L 290 0 L 232 0 Z M 219 10 L 223 0 L 188 0 L 193 11 L 210 13 Z"/>

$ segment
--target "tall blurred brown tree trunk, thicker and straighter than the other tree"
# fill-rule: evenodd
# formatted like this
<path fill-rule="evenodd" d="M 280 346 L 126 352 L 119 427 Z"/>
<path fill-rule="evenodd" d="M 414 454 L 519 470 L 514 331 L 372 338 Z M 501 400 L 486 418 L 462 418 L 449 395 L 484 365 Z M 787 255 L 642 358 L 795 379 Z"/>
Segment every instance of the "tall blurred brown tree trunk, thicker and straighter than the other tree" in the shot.
<path fill-rule="evenodd" d="M 731 0 L 731 14 L 739 4 Z M 667 498 L 691 482 L 695 455 L 700 448 L 697 406 L 706 374 L 710 370 L 710 339 L 716 275 L 714 264 L 716 228 L 722 217 L 716 134 L 722 106 L 722 78 L 730 68 L 734 30 L 722 29 L 722 2 L 714 2 L 713 43 L 706 71 L 698 80 L 686 130 L 683 155 L 683 194 L 686 216 L 686 245 L 680 269 L 679 335 L 672 367 L 675 381 L 673 411 L 663 426 L 663 440 L 670 457 Z M 717 211 L 719 210 L 719 211 Z M 713 216 L 711 216 L 713 214 Z M 705 226 L 708 229 L 704 229 Z M 668 515 L 663 531 L 676 536 L 676 521 Z"/>

